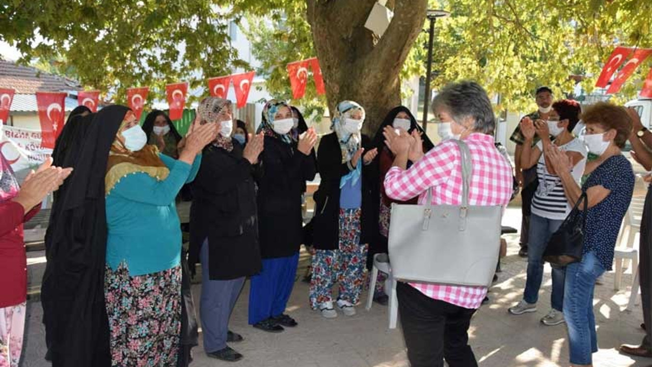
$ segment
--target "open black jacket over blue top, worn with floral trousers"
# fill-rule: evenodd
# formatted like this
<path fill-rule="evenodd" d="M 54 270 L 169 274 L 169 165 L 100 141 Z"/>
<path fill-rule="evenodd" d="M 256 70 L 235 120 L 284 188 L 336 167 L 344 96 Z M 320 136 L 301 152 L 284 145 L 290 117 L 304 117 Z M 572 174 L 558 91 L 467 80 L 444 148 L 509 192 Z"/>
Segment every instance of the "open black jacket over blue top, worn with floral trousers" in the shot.
<path fill-rule="evenodd" d="M 362 138 L 365 152 L 374 148 L 368 136 L 363 135 Z M 346 163 L 342 163 L 342 150 L 335 133 L 321 138 L 317 152 L 317 162 L 321 183 L 319 183 L 319 189 L 314 194 L 313 245 L 316 249 L 338 249 L 340 240 L 340 180 L 342 176 L 349 173 L 349 168 Z M 376 240 L 374 233 L 378 232 L 378 229 L 374 228 L 374 226 L 378 227 L 378 210 L 374 210 L 378 205 L 374 206 L 374 202 L 378 202 L 379 198 L 373 197 L 374 184 L 378 181 L 377 165 L 363 165 L 361 180 L 363 192 L 360 243 L 368 244 Z"/>

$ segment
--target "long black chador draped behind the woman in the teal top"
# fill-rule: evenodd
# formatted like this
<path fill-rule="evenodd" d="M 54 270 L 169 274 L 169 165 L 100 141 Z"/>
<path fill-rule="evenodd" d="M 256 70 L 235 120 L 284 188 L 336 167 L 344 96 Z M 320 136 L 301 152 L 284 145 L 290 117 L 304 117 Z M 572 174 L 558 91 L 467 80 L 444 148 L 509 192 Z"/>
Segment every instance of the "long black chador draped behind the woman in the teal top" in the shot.
<path fill-rule="evenodd" d="M 83 139 L 70 142 L 69 149 L 78 157 L 50 214 L 41 288 L 53 367 L 111 365 L 104 304 L 104 176 L 111 144 L 127 111 L 114 105 L 85 116 L 78 121 L 88 125 Z"/>

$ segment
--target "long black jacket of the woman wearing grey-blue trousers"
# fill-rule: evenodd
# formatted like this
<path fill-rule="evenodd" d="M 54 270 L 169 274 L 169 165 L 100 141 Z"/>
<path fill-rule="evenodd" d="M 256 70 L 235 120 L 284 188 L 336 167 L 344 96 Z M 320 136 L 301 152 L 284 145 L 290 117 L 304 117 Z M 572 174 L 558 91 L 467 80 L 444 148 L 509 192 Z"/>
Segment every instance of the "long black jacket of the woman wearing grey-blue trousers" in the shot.
<path fill-rule="evenodd" d="M 259 165 L 243 158 L 243 148 L 209 145 L 192 185 L 190 207 L 190 269 L 209 241 L 209 278 L 228 280 L 252 276 L 261 270 L 254 176 Z"/>

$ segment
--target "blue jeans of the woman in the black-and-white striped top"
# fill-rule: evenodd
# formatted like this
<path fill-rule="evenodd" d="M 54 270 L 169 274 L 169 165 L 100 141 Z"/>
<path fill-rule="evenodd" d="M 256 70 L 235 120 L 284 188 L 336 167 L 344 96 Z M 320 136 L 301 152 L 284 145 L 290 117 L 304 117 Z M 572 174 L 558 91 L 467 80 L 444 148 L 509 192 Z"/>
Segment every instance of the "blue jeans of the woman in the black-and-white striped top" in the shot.
<path fill-rule="evenodd" d="M 527 280 L 523 299 L 537 303 L 543 279 L 543 251 L 550 236 L 559 229 L 563 220 L 530 215 L 529 243 L 527 244 Z M 550 303 L 557 311 L 563 310 L 565 268 L 552 267 L 552 296 Z"/>

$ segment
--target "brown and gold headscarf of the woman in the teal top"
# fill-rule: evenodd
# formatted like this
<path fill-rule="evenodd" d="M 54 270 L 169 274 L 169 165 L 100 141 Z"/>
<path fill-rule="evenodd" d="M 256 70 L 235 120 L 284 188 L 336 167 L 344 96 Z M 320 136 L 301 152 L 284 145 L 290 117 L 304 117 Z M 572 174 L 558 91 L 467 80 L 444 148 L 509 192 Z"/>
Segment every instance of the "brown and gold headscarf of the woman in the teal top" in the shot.
<path fill-rule="evenodd" d="M 126 112 L 117 135 L 121 134 L 122 129 L 131 120 L 132 115 L 134 115 L 134 112 L 131 110 Z M 117 135 L 109 151 L 106 176 L 104 177 L 104 190 L 107 196 L 111 193 L 115 184 L 128 174 L 143 172 L 158 181 L 168 178 L 170 169 L 158 157 L 158 148 L 156 146 L 146 145 L 138 152 L 131 152 L 117 138 Z"/>

